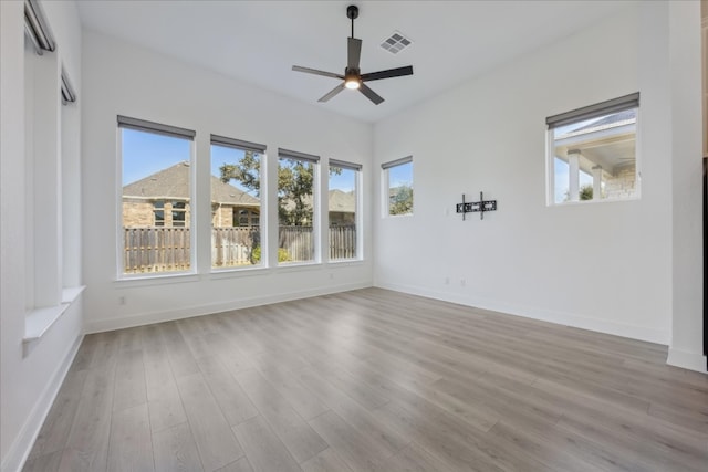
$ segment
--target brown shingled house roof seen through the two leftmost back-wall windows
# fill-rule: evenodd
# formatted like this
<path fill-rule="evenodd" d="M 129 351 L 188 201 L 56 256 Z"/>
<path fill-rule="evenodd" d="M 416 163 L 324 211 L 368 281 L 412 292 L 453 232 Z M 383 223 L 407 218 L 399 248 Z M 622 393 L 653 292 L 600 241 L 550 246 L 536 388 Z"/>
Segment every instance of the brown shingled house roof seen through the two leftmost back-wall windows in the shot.
<path fill-rule="evenodd" d="M 123 187 L 123 197 L 143 199 L 189 199 L 189 162 L 179 162 Z M 211 201 L 220 204 L 258 207 L 260 200 L 211 176 Z"/>

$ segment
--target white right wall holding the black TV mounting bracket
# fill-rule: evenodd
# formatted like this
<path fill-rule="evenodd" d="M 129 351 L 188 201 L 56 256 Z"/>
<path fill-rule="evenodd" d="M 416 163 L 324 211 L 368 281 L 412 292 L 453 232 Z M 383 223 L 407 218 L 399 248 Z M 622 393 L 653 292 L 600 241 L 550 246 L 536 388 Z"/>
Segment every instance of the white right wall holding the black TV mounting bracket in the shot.
<path fill-rule="evenodd" d="M 671 192 L 688 165 L 671 160 L 668 10 L 633 6 L 376 124 L 376 165 L 414 156 L 415 214 L 375 218 L 375 284 L 669 344 L 674 287 L 695 297 L 701 280 L 671 279 L 671 221 L 694 192 Z M 548 207 L 545 117 L 637 91 L 642 198 Z M 480 190 L 498 211 L 461 221 L 455 203 Z"/>

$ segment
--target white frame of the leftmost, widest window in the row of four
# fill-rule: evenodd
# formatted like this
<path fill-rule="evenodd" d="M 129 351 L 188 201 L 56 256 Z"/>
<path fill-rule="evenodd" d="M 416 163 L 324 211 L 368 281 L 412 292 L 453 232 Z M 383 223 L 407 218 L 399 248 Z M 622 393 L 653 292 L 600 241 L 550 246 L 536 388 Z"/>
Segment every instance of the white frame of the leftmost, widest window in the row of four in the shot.
<path fill-rule="evenodd" d="M 142 133 L 150 133 L 154 135 L 162 135 L 173 138 L 185 139 L 189 143 L 189 206 L 196 208 L 196 141 L 195 137 L 197 133 L 191 129 L 181 128 L 178 126 L 165 125 L 157 122 L 149 122 L 146 119 L 132 118 L 124 115 L 117 115 L 116 117 L 116 280 L 138 280 L 138 279 L 160 279 L 170 276 L 185 276 L 197 274 L 197 224 L 196 216 L 191 214 L 189 223 L 189 269 L 180 271 L 156 271 L 156 272 L 140 272 L 140 273 L 126 273 L 124 266 L 124 235 L 123 231 L 123 129 L 133 129 Z M 171 201 L 171 200 L 170 200 Z M 166 203 L 167 200 L 164 201 Z M 153 222 L 155 222 L 155 200 L 152 200 L 153 204 Z M 166 217 L 165 209 L 162 209 L 164 217 Z M 166 220 L 166 218 L 165 218 Z M 164 221 L 165 221 L 164 220 Z M 164 224 L 164 223 L 163 223 Z M 185 228 L 185 227 L 177 227 Z"/>

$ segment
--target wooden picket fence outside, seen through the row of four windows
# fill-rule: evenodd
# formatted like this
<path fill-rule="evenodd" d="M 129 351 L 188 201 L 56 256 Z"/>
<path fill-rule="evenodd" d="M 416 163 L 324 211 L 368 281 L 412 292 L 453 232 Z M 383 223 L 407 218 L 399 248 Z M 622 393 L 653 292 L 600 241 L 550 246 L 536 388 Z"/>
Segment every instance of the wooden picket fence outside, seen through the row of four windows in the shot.
<path fill-rule="evenodd" d="M 124 228 L 123 268 L 126 274 L 186 271 L 190 268 L 189 228 Z M 258 227 L 212 228 L 211 265 L 233 268 L 260 262 Z M 332 227 L 330 260 L 356 258 L 356 227 Z M 279 259 L 303 262 L 314 259 L 312 227 L 280 227 Z M 283 261 L 284 260 L 284 261 Z"/>

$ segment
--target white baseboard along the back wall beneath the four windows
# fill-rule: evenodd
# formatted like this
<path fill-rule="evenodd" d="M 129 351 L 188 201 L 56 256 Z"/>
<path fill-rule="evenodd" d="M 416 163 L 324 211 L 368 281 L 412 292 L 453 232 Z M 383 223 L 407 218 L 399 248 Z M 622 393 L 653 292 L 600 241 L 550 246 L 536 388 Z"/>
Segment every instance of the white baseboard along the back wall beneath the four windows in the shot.
<path fill-rule="evenodd" d="M 85 333 L 102 333 L 114 329 L 123 329 L 134 326 L 149 325 L 153 323 L 171 322 L 189 318 L 191 316 L 209 315 L 212 313 L 229 312 L 231 310 L 250 308 L 252 306 L 268 305 L 270 303 L 288 302 L 291 300 L 309 298 L 312 296 L 327 295 L 331 293 L 346 292 L 350 290 L 366 289 L 371 283 L 353 283 L 335 286 L 317 287 L 306 291 L 285 292 L 274 295 L 239 298 L 230 302 L 212 303 L 207 305 L 187 306 L 178 310 L 165 310 L 159 312 L 140 313 L 137 315 L 122 316 L 110 319 L 96 319 L 85 322 Z"/>

